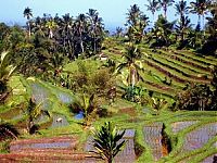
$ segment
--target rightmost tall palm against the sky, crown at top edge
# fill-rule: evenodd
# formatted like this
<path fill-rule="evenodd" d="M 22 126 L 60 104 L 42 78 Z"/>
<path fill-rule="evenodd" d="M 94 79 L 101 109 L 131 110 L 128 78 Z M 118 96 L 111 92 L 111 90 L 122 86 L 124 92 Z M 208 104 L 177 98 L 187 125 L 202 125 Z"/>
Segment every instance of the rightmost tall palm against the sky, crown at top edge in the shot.
<path fill-rule="evenodd" d="M 210 4 L 209 0 L 196 0 L 196 2 L 190 2 L 191 13 L 199 15 L 197 24 L 201 24 L 201 16 L 203 17 L 203 28 L 204 28 L 204 16 L 207 13 L 208 7 Z"/>

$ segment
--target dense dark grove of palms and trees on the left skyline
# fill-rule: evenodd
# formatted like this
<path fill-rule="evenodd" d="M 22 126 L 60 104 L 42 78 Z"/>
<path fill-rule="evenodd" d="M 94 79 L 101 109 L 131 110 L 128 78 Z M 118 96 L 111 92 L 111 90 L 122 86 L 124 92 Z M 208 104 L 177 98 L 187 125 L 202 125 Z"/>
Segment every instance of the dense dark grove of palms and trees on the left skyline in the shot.
<path fill-rule="evenodd" d="M 26 27 L 0 24 L 0 51 L 10 50 L 11 63 L 25 75 L 34 72 L 58 71 L 64 62 L 79 55 L 89 58 L 101 51 L 105 36 L 102 17 L 97 10 L 73 17 L 43 14 L 34 17 L 24 10 Z"/>

